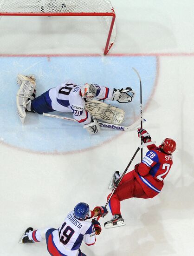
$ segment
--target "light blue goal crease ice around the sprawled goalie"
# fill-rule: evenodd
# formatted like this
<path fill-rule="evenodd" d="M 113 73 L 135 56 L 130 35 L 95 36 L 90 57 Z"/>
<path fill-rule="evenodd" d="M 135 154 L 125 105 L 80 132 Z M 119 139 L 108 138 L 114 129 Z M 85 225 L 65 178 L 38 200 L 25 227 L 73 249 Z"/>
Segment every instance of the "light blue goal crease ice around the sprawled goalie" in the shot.
<path fill-rule="evenodd" d="M 133 124 L 140 117 L 140 85 L 132 67 L 135 66 L 141 74 L 142 81 L 146 81 L 145 84 L 142 82 L 143 108 L 146 108 L 150 102 L 150 97 L 154 97 L 158 58 L 155 56 L 131 57 L 124 55 L 105 57 L 56 56 L 50 57 L 49 61 L 44 56 L 0 58 L 0 80 L 6 87 L 1 90 L 0 143 L 36 154 L 82 154 L 84 150 L 102 147 L 103 143 L 113 141 L 118 135 L 130 133 L 125 131 L 124 127 Z M 19 65 L 15 65 L 16 62 Z M 13 75 L 7 76 L 7 67 L 9 67 L 10 74 Z M 81 115 L 83 108 L 80 107 L 82 105 L 79 102 L 78 90 L 86 82 L 107 86 L 110 89 L 121 89 L 130 86 L 136 92 L 136 97 L 132 102 L 122 104 L 117 101 L 104 101 L 123 109 L 125 111 L 125 121 L 119 126 L 108 123 L 102 124 L 105 121 L 99 121 L 101 132 L 95 135 L 90 135 L 83 128 L 84 119 L 76 122 L 49 118 L 37 113 L 26 113 L 25 123 L 22 125 L 17 114 L 15 100 L 15 95 L 19 89 L 16 77 L 17 74 L 26 70 L 26 67 L 27 73 L 34 74 L 36 77 L 36 97 L 51 87 L 60 86 L 66 79 L 72 79 L 78 84 L 76 87 L 72 86 L 71 90 L 73 95 L 78 97 L 78 101 L 73 102 L 73 109 L 67 108 L 65 113 L 60 111 L 49 113 L 52 115 L 73 118 L 73 111 L 74 115 Z M 61 93 L 69 95 L 70 89 L 63 88 Z M 7 102 L 13 102 L 13 104 Z M 66 99 L 60 102 L 62 105 L 68 106 Z M 143 117 L 146 118 L 146 116 Z"/>

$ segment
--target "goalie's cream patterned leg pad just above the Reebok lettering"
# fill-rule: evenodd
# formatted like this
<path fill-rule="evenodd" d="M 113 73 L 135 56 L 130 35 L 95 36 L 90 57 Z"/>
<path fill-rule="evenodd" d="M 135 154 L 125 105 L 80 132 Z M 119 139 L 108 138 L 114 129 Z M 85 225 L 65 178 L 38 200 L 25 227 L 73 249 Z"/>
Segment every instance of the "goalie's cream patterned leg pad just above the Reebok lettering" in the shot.
<path fill-rule="evenodd" d="M 85 109 L 95 118 L 111 124 L 120 124 L 124 121 L 125 112 L 101 101 L 88 100 Z"/>

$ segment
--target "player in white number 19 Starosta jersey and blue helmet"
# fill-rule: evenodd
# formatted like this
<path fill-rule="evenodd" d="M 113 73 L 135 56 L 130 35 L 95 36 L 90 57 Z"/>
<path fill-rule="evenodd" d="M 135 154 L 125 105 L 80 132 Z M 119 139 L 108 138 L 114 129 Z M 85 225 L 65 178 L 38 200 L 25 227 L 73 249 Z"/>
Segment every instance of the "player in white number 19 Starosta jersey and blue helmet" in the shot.
<path fill-rule="evenodd" d="M 103 206 L 97 206 L 90 211 L 89 205 L 84 202 L 78 203 L 74 210 L 65 218 L 58 229 L 28 228 L 21 236 L 19 243 L 35 243 L 46 240 L 47 250 L 52 256 L 86 256 L 81 252 L 82 241 L 87 245 L 96 242 L 96 235 L 101 232 L 100 223 L 96 216 L 104 217 L 108 213 Z"/>

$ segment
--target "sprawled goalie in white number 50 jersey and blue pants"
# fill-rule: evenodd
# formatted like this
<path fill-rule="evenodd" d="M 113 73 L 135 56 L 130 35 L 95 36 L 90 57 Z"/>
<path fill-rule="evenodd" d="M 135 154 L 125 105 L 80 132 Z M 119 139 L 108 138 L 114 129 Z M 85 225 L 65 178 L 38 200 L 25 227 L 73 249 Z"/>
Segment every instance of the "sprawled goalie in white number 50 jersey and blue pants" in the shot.
<path fill-rule="evenodd" d="M 130 87 L 110 89 L 88 83 L 82 86 L 67 80 L 35 98 L 36 81 L 34 75 L 19 74 L 17 82 L 20 88 L 16 102 L 22 123 L 24 123 L 26 112 L 38 114 L 55 110 L 72 112 L 74 119 L 83 124 L 91 135 L 100 130 L 97 119 L 111 124 L 120 124 L 124 121 L 123 109 L 108 105 L 101 100 L 127 103 L 131 102 L 134 97 L 134 91 Z M 97 98 L 98 101 L 93 98 Z"/>

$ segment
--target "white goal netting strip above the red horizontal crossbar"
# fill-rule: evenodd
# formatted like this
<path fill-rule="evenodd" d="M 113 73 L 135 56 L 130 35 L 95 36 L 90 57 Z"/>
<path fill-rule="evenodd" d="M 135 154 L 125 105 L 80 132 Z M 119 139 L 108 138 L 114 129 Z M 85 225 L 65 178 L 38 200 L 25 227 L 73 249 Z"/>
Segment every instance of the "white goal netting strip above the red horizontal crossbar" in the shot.
<path fill-rule="evenodd" d="M 114 13 L 110 0 L 0 0 L 0 13 Z"/>

